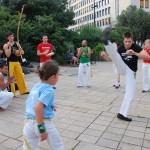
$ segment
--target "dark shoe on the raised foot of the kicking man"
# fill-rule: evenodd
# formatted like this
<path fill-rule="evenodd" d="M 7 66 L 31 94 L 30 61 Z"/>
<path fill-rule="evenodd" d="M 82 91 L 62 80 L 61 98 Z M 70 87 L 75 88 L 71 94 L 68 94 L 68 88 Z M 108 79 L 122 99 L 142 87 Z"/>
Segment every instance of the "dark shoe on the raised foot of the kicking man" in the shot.
<path fill-rule="evenodd" d="M 109 40 L 110 32 L 111 32 L 111 28 L 110 28 L 110 27 L 105 28 L 105 29 L 103 30 L 103 32 L 102 32 L 101 40 L 102 40 L 102 42 L 103 42 L 105 45 L 108 45 L 108 40 Z"/>

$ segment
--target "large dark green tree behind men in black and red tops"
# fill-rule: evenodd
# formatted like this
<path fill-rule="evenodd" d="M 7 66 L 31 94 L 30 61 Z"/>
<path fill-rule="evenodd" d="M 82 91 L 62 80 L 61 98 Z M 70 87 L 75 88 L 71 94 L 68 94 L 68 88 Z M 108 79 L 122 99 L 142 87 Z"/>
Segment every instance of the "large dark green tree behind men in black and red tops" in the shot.
<path fill-rule="evenodd" d="M 19 35 L 27 59 L 39 60 L 36 48 L 46 34 L 55 47 L 55 59 L 60 60 L 68 46 L 74 47 L 70 41 L 72 31 L 66 30 L 74 24 L 74 13 L 66 9 L 66 3 L 67 0 L 4 0 L 0 6 L 0 45 L 6 42 L 7 32 L 14 32 L 16 37 L 18 11 L 25 5 Z"/>

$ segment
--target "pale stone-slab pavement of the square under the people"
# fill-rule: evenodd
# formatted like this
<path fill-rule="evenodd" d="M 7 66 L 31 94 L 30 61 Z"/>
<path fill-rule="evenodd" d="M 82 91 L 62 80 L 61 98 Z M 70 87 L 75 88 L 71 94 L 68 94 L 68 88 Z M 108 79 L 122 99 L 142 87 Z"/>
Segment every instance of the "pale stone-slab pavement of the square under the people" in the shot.
<path fill-rule="evenodd" d="M 77 88 L 77 67 L 60 67 L 55 101 L 54 124 L 65 150 L 149 150 L 150 93 L 141 93 L 141 62 L 137 73 L 137 92 L 129 115 L 133 121 L 118 120 L 124 95 L 124 78 L 114 89 L 112 63 L 92 65 L 92 88 Z M 25 76 L 28 89 L 39 81 L 37 74 Z M 85 82 L 84 82 L 85 83 Z M 0 113 L 0 150 L 22 150 L 22 128 L 27 95 L 17 95 L 8 110 Z M 38 150 L 48 150 L 47 143 Z"/>

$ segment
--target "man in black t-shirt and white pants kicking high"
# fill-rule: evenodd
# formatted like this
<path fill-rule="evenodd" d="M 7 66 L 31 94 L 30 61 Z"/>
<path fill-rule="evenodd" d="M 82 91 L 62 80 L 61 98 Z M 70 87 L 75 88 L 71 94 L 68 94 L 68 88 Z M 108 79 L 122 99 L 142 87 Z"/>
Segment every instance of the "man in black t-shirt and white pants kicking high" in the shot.
<path fill-rule="evenodd" d="M 127 115 L 130 103 L 135 95 L 138 57 L 142 59 L 150 59 L 150 56 L 142 50 L 140 46 L 133 43 L 133 36 L 129 32 L 124 34 L 124 45 L 121 46 L 117 52 L 116 44 L 112 44 L 108 40 L 110 31 L 110 28 L 104 29 L 102 41 L 118 71 L 121 75 L 125 76 L 126 83 L 124 100 L 117 117 L 121 120 L 132 121 L 132 118 L 128 118 Z"/>

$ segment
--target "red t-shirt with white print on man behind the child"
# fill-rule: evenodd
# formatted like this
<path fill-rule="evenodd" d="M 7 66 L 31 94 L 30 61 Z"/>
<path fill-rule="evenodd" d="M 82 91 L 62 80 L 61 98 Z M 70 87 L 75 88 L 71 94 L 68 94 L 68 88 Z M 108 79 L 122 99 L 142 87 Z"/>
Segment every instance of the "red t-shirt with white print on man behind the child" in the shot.
<path fill-rule="evenodd" d="M 40 53 L 45 53 L 45 54 L 49 54 L 52 52 L 53 50 L 53 45 L 51 43 L 40 43 L 37 47 L 37 50 L 40 51 Z M 47 60 L 50 60 L 51 56 L 45 56 L 45 55 L 41 55 L 40 56 L 40 62 L 43 63 Z"/>

